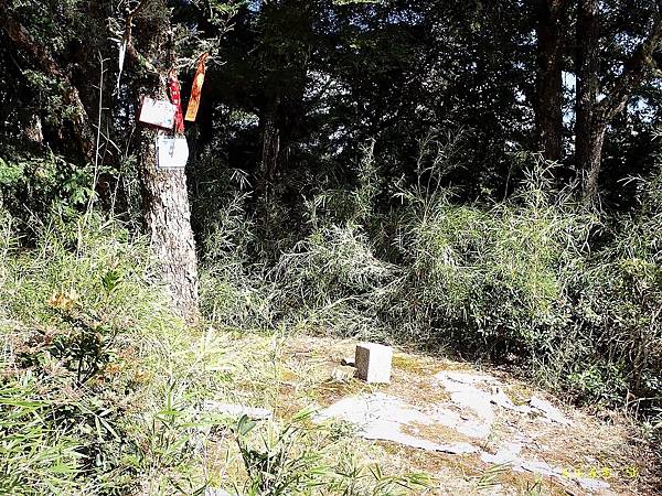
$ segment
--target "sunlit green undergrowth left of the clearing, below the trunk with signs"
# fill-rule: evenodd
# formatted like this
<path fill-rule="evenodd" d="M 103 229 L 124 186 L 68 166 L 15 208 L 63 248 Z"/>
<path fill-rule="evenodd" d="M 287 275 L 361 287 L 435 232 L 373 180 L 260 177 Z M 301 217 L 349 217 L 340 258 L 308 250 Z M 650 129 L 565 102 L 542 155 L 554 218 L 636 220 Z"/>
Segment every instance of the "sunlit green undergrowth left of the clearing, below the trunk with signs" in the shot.
<path fill-rule="evenodd" d="M 425 486 L 361 460 L 350 433 L 313 424 L 311 410 L 237 424 L 214 407 L 273 401 L 279 337 L 247 348 L 241 334 L 186 327 L 145 240 L 119 222 L 56 211 L 30 226 L 26 249 L 1 214 L 0 493 L 376 496 Z"/>

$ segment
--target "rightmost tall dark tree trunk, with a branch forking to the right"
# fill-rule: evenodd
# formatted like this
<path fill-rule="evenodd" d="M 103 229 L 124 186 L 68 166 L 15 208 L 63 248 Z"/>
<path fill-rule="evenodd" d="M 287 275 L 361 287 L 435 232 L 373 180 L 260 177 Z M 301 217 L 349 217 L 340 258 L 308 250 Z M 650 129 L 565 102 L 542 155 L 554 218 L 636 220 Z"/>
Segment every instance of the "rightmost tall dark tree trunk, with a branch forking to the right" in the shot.
<path fill-rule="evenodd" d="M 600 68 L 600 20 L 598 0 L 579 0 L 577 12 L 577 94 L 575 161 L 586 177 L 585 194 L 591 201 L 598 192 L 600 155 L 605 137 L 597 98 Z"/>

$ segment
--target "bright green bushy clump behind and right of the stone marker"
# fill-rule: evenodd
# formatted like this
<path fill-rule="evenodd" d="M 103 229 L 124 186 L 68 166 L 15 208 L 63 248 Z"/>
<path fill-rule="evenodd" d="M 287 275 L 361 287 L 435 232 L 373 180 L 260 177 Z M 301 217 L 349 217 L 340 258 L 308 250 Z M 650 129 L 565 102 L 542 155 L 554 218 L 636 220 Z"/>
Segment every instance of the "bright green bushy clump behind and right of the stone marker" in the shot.
<path fill-rule="evenodd" d="M 569 323 L 567 283 L 595 219 L 547 177 L 532 172 L 489 209 L 441 198 L 417 212 L 398 240 L 408 274 L 394 317 L 493 356 L 548 353 Z"/>

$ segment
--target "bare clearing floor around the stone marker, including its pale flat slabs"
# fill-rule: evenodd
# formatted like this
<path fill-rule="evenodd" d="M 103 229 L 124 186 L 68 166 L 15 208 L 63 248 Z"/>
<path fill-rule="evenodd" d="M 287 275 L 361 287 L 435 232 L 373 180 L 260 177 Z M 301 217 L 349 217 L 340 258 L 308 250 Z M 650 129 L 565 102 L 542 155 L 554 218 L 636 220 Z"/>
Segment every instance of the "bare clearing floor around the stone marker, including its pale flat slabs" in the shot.
<path fill-rule="evenodd" d="M 429 475 L 429 488 L 409 494 L 662 495 L 652 448 L 633 422 L 569 407 L 506 371 L 396 349 L 391 384 L 376 386 L 342 365 L 355 341 L 224 339 L 235 365 L 223 365 L 234 371 L 222 401 L 266 408 L 281 423 L 312 407 L 317 422 L 351 424 L 344 442 L 363 462 Z M 241 481 L 232 441 L 217 448 L 212 472 Z"/>

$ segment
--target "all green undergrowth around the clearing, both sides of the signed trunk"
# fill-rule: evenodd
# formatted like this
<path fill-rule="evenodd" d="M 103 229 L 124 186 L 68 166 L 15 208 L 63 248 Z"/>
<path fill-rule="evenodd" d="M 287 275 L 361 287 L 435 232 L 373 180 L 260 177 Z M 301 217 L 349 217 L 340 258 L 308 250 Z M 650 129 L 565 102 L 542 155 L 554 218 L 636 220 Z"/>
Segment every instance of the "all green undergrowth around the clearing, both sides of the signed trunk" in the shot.
<path fill-rule="evenodd" d="M 306 410 L 254 424 L 210 407 L 274 403 L 278 339 L 298 331 L 508 363 L 578 402 L 623 406 L 660 436 L 662 176 L 639 180 L 627 216 L 587 209 L 541 161 L 510 197 L 458 204 L 437 149 L 417 186 L 392 185 L 386 211 L 365 151 L 356 187 L 309 198 L 307 231 L 275 260 L 256 252 L 249 196 L 227 196 L 202 233 L 196 328 L 119 220 L 67 203 L 22 219 L 0 208 L 0 490 L 423 487 L 364 463 Z M 245 348 L 248 330 L 269 336 L 261 349 Z"/>

